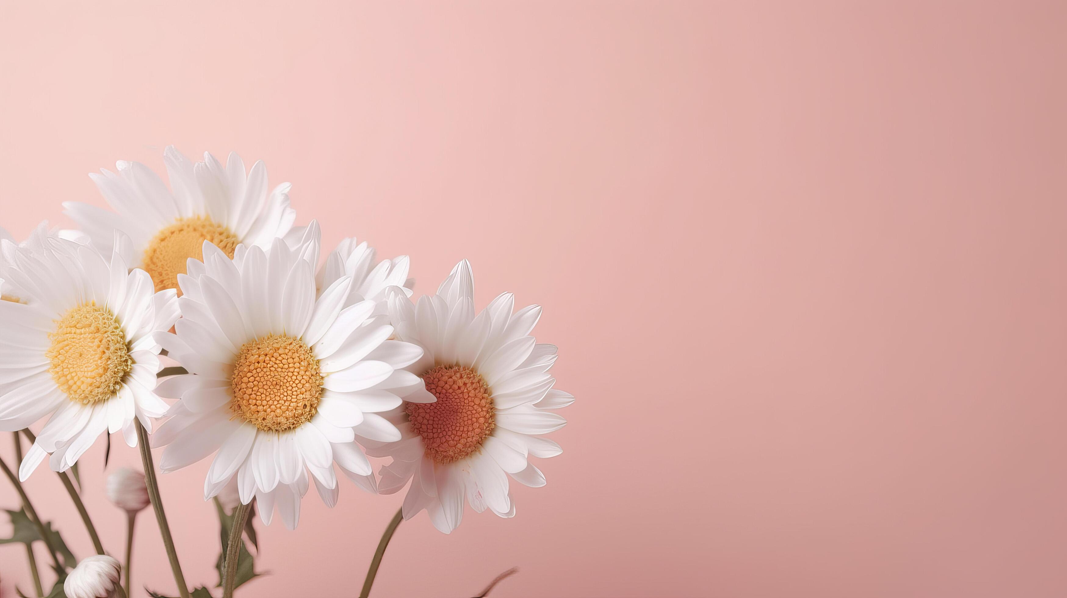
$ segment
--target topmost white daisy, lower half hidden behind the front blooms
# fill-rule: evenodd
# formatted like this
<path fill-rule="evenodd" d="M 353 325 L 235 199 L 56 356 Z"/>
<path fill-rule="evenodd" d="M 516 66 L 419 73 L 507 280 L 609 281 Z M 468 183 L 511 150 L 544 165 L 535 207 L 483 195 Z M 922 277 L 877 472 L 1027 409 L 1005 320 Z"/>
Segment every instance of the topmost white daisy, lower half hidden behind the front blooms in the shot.
<path fill-rule="evenodd" d="M 129 235 L 133 245 L 124 257 L 152 276 L 156 290 L 178 288 L 187 261 L 203 257 L 204 241 L 233 257 L 238 245 L 267 248 L 292 227 L 297 213 L 289 207 L 290 185 L 268 192 L 262 161 L 245 173 L 237 154 L 229 155 L 226 166 L 207 153 L 194 163 L 173 146 L 163 152 L 163 161 L 170 190 L 148 167 L 120 161 L 117 172 L 89 175 L 114 211 L 63 204 L 64 214 L 106 254 L 112 251 L 114 231 Z"/>

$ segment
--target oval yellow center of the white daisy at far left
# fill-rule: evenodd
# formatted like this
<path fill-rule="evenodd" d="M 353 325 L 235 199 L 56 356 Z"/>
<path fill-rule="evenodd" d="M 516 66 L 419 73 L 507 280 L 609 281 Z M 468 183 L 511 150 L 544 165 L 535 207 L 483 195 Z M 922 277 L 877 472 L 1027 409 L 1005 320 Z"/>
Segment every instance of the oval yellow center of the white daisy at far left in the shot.
<path fill-rule="evenodd" d="M 70 400 L 92 405 L 115 396 L 133 367 L 122 326 L 93 303 L 71 308 L 48 336 L 48 373 Z"/>

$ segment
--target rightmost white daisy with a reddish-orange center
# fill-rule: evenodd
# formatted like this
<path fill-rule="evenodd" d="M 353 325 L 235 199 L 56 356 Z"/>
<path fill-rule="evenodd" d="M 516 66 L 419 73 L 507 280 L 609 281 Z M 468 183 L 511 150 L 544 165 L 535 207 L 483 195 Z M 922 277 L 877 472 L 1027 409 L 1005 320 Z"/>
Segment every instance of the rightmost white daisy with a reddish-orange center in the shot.
<path fill-rule="evenodd" d="M 512 314 L 514 297 L 505 293 L 475 315 L 466 261 L 433 297 L 413 305 L 395 292 L 388 305 L 397 339 L 424 350 L 405 369 L 417 374 L 436 400 L 405 400 L 386 414 L 403 436 L 399 442 L 365 442 L 368 455 L 393 457 L 382 468 L 379 490 L 396 492 L 411 481 L 404 519 L 425 508 L 445 533 L 460 524 L 465 503 L 478 513 L 512 517 L 508 474 L 527 486 L 544 485 L 528 457 L 560 454 L 559 445 L 542 435 L 567 423 L 551 409 L 574 400 L 553 389 L 556 379 L 548 368 L 556 347 L 530 336 L 541 308 Z"/>

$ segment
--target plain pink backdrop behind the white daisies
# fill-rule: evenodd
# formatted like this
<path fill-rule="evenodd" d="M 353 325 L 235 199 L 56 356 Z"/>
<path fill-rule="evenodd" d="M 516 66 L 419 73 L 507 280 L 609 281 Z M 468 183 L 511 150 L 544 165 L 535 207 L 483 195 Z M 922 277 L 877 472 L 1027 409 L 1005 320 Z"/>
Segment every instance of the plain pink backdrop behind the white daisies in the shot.
<path fill-rule="evenodd" d="M 515 565 L 495 596 L 1067 595 L 1067 6 L 382 4 L 0 9 L 17 236 L 102 203 L 115 159 L 236 150 L 328 246 L 410 254 L 423 292 L 467 257 L 480 304 L 545 306 L 578 397 L 548 485 L 404 523 L 376 596 Z M 162 477 L 195 583 L 206 467 Z M 345 484 L 261 532 L 244 596 L 355 596 L 400 498 Z M 29 488 L 89 554 L 55 477 Z M 140 523 L 138 585 L 173 592 Z"/>

